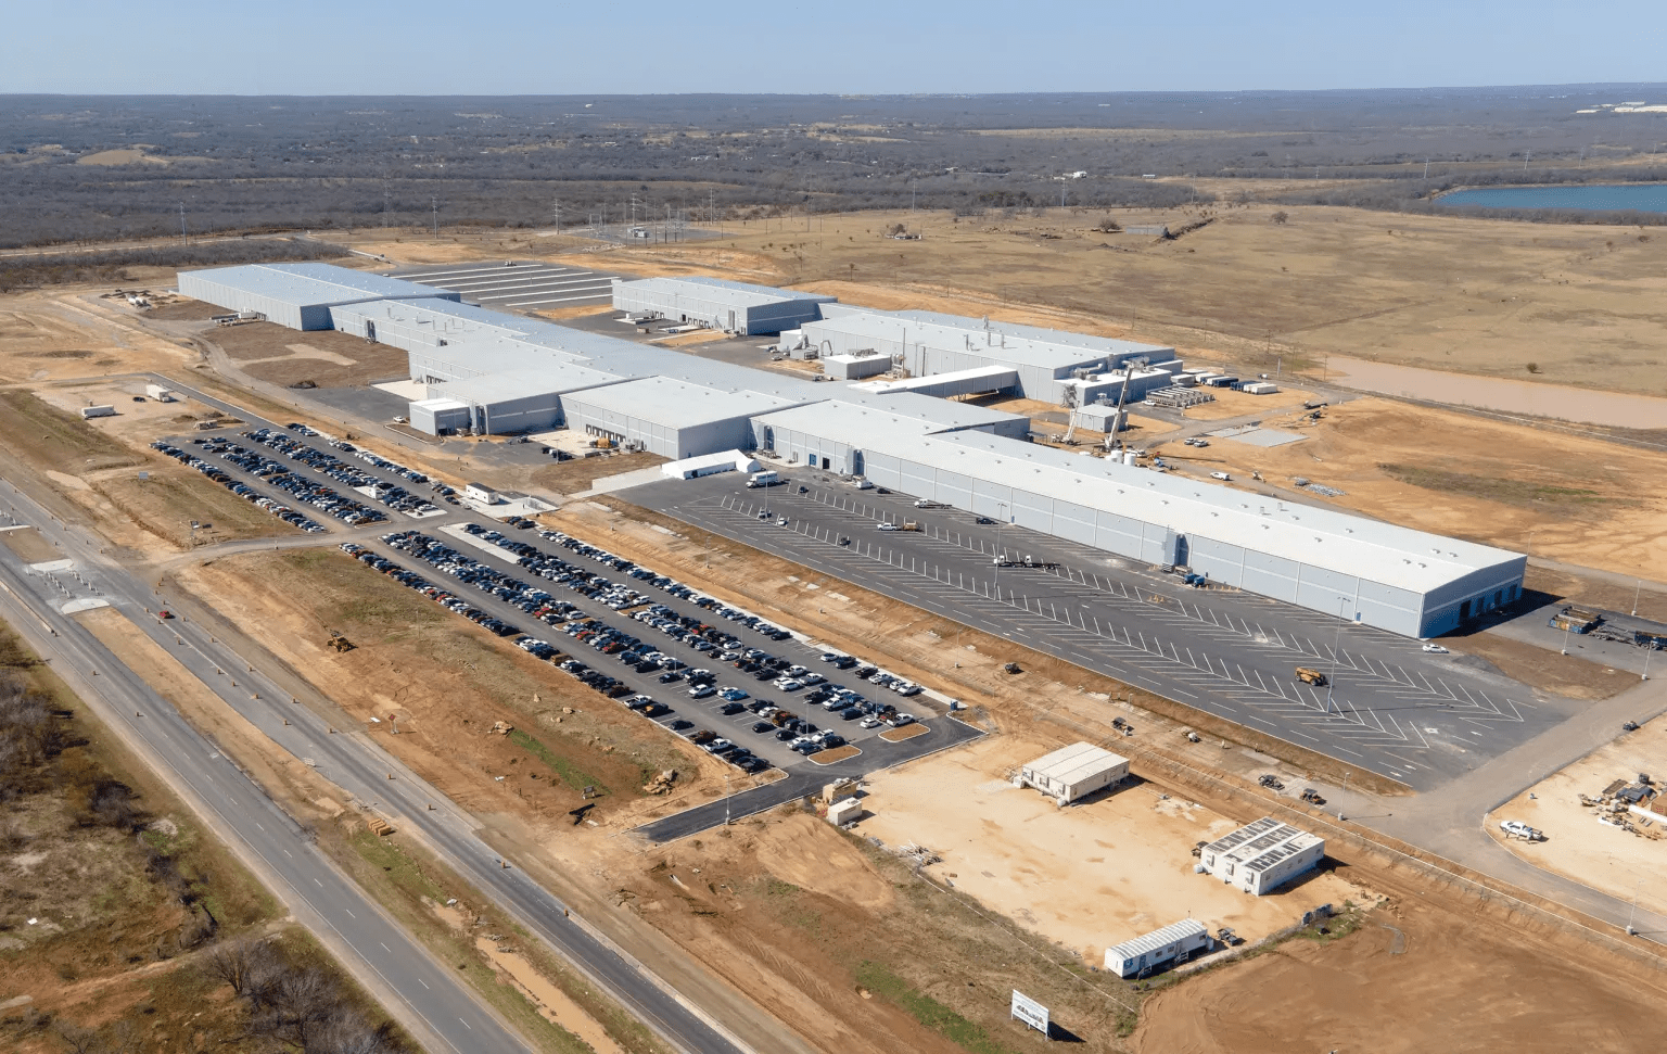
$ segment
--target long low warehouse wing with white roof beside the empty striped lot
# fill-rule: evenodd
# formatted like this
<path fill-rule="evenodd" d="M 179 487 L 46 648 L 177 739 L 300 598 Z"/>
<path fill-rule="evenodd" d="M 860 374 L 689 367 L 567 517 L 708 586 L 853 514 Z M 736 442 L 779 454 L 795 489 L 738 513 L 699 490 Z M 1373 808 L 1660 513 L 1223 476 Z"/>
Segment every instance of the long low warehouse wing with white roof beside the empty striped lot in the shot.
<path fill-rule="evenodd" d="M 864 447 L 882 487 L 1407 637 L 1514 600 L 1527 557 L 975 430 Z"/>

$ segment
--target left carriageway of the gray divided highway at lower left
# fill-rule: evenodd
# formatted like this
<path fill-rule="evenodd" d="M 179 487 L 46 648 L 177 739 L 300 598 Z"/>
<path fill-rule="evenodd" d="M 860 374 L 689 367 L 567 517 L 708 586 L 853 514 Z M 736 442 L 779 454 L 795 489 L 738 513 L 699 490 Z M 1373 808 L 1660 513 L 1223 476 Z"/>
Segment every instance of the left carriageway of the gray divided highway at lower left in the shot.
<path fill-rule="evenodd" d="M 8 495 L 10 505 L 18 500 L 20 495 Z M 38 510 L 28 512 L 38 515 Z M 102 579 L 93 575 L 95 582 Z M 347 959 L 355 976 L 372 981 L 387 1011 L 428 1051 L 518 1054 L 528 1049 L 475 1002 L 455 971 L 435 962 L 368 901 L 307 832 L 172 704 L 122 665 L 80 622 L 60 614 L 68 599 L 110 599 L 93 594 L 98 585 L 88 587 L 68 570 L 32 572 L 10 549 L 0 549 L 0 610 L 30 647 L 133 744 L 303 924 Z"/>

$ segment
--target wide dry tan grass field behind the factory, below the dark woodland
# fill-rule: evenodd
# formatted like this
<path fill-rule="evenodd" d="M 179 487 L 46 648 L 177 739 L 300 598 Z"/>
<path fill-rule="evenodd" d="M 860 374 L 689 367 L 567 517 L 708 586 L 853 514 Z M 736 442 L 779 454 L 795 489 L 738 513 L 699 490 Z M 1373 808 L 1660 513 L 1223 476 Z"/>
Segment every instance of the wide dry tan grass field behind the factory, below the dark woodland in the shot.
<path fill-rule="evenodd" d="M 1277 212 L 1287 222 L 1274 222 Z M 1100 233 L 1160 222 L 1175 240 Z M 919 242 L 885 237 L 902 223 Z M 1174 344 L 1209 362 L 1320 367 L 1329 354 L 1524 380 L 1667 394 L 1667 235 L 1635 228 L 1212 205 L 1167 213 L 944 212 L 752 222 L 733 237 L 583 260 L 703 270 Z M 1019 312 L 1019 314 L 1015 314 Z M 1029 315 L 1029 317 L 1027 317 Z M 1537 374 L 1529 372 L 1529 364 Z"/>

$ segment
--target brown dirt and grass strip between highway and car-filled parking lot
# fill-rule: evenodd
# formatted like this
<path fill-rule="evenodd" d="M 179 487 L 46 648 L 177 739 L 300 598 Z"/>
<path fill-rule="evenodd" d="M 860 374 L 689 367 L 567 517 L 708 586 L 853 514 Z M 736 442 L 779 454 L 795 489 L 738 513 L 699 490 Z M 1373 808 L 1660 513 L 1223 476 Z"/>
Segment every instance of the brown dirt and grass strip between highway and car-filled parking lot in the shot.
<path fill-rule="evenodd" d="M 643 735 L 642 720 L 618 704 L 345 554 L 247 554 L 187 565 L 172 580 L 305 670 L 385 735 L 390 752 L 478 816 L 517 814 L 567 837 L 567 812 L 583 804 L 587 785 L 602 794 L 590 819 L 607 827 L 667 807 L 642 794 L 655 772 L 678 772 L 675 801 L 723 785 L 722 762 L 673 735 Z M 330 630 L 357 647 L 327 649 Z M 515 730 L 493 735 L 495 720 Z M 398 735 L 387 734 L 393 724 Z"/>

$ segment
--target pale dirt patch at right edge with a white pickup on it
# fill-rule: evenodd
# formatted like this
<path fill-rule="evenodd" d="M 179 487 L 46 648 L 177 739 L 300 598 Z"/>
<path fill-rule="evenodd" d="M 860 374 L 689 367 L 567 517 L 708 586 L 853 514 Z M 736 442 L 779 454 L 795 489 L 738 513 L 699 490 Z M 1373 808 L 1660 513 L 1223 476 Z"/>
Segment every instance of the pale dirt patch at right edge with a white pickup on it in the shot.
<path fill-rule="evenodd" d="M 1635 684 L 1635 682 L 1634 682 Z M 1535 867 L 1600 889 L 1639 907 L 1667 914 L 1667 816 L 1627 817 L 1635 831 L 1599 822 L 1597 807 L 1580 797 L 1599 797 L 1617 779 L 1629 784 L 1639 772 L 1667 775 L 1667 717 L 1604 744 L 1572 765 L 1552 772 L 1487 817 L 1487 832 Z M 1544 842 L 1505 839 L 1499 821 L 1522 821 L 1545 832 Z M 1645 827 L 1645 824 L 1649 824 Z"/>

